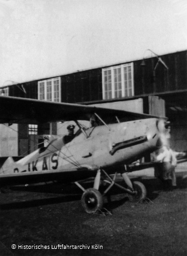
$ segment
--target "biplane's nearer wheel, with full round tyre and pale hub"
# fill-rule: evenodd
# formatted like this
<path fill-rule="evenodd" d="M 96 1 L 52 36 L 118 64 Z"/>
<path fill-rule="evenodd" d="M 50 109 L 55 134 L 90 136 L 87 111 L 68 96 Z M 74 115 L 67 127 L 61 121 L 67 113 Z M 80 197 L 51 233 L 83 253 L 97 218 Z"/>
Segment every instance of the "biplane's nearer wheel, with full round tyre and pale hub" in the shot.
<path fill-rule="evenodd" d="M 94 213 L 103 207 L 103 196 L 95 188 L 85 190 L 81 198 L 82 206 L 87 213 Z"/>

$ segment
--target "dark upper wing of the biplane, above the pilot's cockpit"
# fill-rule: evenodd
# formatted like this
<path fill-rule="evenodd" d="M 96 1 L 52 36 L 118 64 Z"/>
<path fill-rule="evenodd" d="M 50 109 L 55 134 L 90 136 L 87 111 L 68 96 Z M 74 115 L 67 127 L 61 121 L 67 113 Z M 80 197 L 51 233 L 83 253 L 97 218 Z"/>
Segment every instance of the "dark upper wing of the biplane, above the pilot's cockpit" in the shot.
<path fill-rule="evenodd" d="M 19 97 L 0 96 L 0 123 L 55 123 L 57 121 L 89 120 L 90 114 L 98 113 L 101 117 L 117 115 L 126 120 L 155 117 L 142 113 L 113 110 L 83 104 L 54 103 Z"/>

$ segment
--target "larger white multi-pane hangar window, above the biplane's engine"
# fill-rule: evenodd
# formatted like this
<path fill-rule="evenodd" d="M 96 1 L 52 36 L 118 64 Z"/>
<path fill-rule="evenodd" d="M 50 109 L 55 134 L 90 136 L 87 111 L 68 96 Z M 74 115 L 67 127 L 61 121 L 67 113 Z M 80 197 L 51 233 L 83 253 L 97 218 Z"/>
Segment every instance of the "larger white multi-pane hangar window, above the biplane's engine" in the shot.
<path fill-rule="evenodd" d="M 103 69 L 103 99 L 133 96 L 133 63 Z"/>

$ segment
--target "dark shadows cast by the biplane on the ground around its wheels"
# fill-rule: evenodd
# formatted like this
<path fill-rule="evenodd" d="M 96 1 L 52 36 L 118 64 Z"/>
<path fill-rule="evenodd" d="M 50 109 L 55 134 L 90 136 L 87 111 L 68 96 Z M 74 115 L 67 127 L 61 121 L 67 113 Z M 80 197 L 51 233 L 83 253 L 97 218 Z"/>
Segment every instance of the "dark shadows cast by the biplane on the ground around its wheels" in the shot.
<path fill-rule="evenodd" d="M 159 179 L 152 177 L 137 177 L 131 179 L 133 181 L 140 181 L 144 184 L 147 190 L 147 198 L 151 201 L 154 201 L 159 197 L 159 192 L 163 190 L 162 182 Z M 119 184 L 124 185 L 123 179 L 119 179 Z M 177 188 L 183 189 L 186 188 L 186 180 L 183 180 L 182 177 L 177 177 Z M 92 188 L 93 181 L 83 182 L 84 189 Z M 107 185 L 108 186 L 108 185 Z M 107 186 L 100 186 L 100 192 L 103 193 L 106 190 Z M 6 190 L 5 190 L 6 191 Z M 6 191 L 7 192 L 7 191 Z M 37 206 L 44 206 L 48 204 L 57 204 L 62 202 L 73 202 L 81 200 L 82 190 L 78 188 L 74 183 L 61 184 L 59 182 L 50 183 L 50 184 L 39 184 L 32 186 L 12 186 L 9 190 L 9 193 L 19 192 L 19 195 L 27 192 L 31 192 L 30 200 L 25 201 L 25 199 L 18 199 L 18 201 L 1 204 L 1 210 L 11 210 L 11 209 L 21 209 L 21 208 L 31 208 Z M 32 194 L 33 193 L 33 194 Z M 40 193 L 41 196 L 35 199 L 34 193 Z M 57 197 L 54 197 L 57 195 Z M 119 200 L 112 200 L 113 195 L 121 195 Z M 47 197 L 47 198 L 46 198 Z M 123 205 L 128 201 L 128 195 L 123 192 L 120 188 L 113 186 L 113 188 L 106 194 L 104 197 L 104 207 L 114 210 L 119 206 Z"/>

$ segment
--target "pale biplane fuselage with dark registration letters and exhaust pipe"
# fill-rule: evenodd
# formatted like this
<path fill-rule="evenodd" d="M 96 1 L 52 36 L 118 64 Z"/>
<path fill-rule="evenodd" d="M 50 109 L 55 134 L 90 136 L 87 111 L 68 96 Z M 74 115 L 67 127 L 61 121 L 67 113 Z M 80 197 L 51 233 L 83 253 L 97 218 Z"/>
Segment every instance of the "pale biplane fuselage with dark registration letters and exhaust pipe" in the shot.
<path fill-rule="evenodd" d="M 155 118 L 95 126 L 85 132 L 88 137 L 80 131 L 68 144 L 60 137 L 17 162 L 9 159 L 1 168 L 0 179 L 16 176 L 24 180 L 35 175 L 37 179 L 44 174 L 55 179 L 63 173 L 107 170 L 155 151 L 159 140 Z"/>

